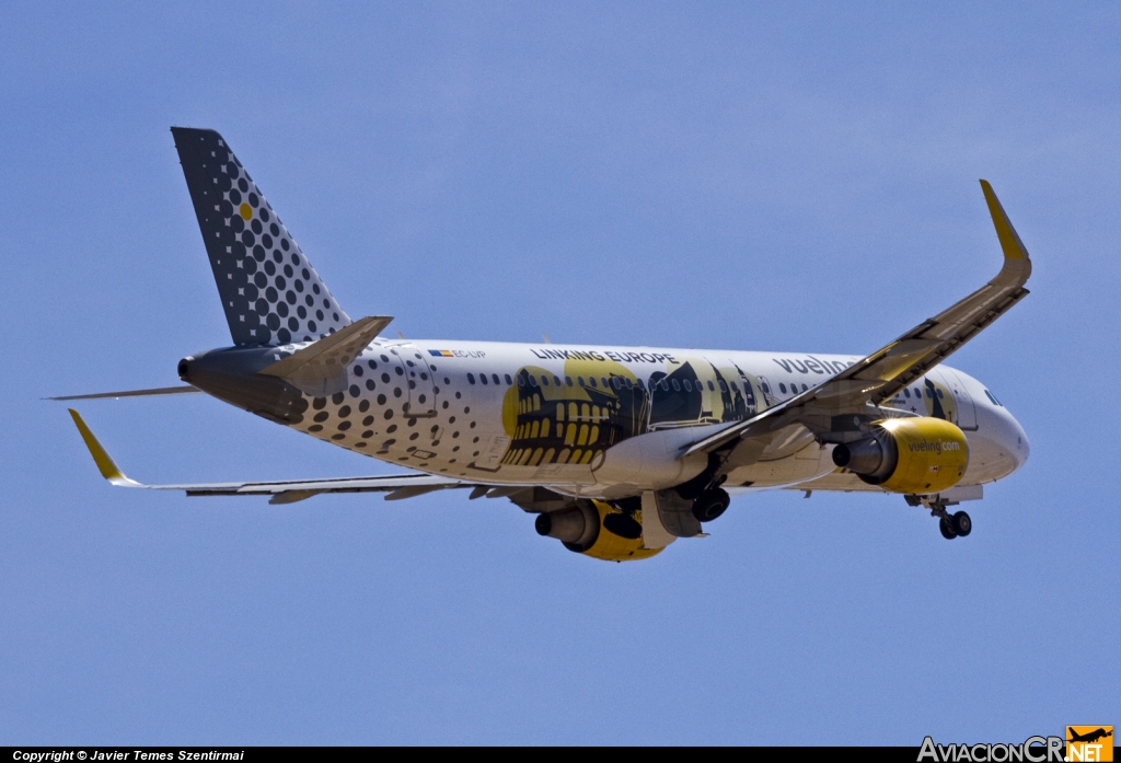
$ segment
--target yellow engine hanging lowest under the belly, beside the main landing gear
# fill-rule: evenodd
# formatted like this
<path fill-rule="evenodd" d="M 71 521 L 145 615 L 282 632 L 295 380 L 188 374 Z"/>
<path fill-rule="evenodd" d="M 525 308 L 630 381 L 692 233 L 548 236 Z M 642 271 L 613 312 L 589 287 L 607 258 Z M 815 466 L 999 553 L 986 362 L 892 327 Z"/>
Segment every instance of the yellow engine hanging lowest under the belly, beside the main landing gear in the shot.
<path fill-rule="evenodd" d="M 649 559 L 661 549 L 642 545 L 642 510 L 627 501 L 613 505 L 604 501 L 578 500 L 576 505 L 537 517 L 541 536 L 562 541 L 576 551 L 605 561 Z"/>

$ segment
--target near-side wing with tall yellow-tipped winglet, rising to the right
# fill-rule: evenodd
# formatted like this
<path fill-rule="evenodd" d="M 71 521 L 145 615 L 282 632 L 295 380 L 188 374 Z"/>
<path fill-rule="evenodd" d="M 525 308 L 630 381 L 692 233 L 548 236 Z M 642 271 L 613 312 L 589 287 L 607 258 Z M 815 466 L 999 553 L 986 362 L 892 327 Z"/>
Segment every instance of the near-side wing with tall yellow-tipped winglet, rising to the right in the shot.
<path fill-rule="evenodd" d="M 736 438 L 775 432 L 793 424 L 815 432 L 832 431 L 843 424 L 834 421 L 835 417 L 863 412 L 895 397 L 1023 299 L 1028 295 L 1023 285 L 1031 275 L 1028 250 L 988 180 L 981 180 L 981 189 L 1004 252 L 995 278 L 814 389 L 693 443 L 683 455 L 715 450 Z"/>

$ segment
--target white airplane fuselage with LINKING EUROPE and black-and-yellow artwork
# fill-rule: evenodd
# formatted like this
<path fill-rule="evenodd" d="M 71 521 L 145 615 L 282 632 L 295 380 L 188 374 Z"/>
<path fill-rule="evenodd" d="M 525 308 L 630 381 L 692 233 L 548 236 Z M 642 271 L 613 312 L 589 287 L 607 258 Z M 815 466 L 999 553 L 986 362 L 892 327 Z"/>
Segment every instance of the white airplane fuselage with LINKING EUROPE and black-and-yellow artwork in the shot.
<path fill-rule="evenodd" d="M 277 348 L 277 356 L 306 345 Z M 293 425 L 392 464 L 487 483 L 622 497 L 680 484 L 706 457 L 680 446 L 813 388 L 856 355 L 655 350 L 379 338 L 350 364 L 348 389 L 306 399 Z M 970 446 L 961 485 L 1004 477 L 1027 436 L 981 382 L 938 366 L 884 403 L 936 416 Z M 779 432 L 725 487 L 878 490 L 837 469 L 800 426 Z"/>

